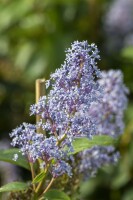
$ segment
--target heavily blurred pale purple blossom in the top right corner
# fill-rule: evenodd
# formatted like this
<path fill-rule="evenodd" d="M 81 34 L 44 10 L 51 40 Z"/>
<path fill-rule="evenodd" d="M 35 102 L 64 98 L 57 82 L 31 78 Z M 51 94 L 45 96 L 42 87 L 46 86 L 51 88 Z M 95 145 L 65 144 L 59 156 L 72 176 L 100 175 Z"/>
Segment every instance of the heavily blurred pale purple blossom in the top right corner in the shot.
<path fill-rule="evenodd" d="M 133 45 L 133 1 L 115 0 L 103 18 L 107 49 L 113 53 Z"/>

